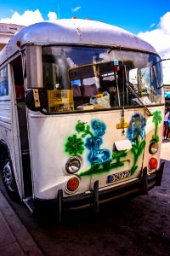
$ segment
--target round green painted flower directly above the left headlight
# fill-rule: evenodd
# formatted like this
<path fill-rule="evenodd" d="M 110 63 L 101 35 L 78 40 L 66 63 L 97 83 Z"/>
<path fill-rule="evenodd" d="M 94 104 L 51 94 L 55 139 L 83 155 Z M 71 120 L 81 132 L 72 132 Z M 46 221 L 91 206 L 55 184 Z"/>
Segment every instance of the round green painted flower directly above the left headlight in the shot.
<path fill-rule="evenodd" d="M 65 143 L 65 152 L 69 154 L 82 154 L 84 151 L 84 147 L 82 138 L 78 138 L 76 134 L 67 138 L 67 142 Z"/>

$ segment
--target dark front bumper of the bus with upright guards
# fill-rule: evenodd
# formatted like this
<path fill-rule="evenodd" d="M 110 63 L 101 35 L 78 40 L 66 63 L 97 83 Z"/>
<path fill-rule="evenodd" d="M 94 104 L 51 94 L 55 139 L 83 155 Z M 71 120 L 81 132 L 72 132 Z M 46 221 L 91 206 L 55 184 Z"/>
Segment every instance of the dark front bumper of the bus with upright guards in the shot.
<path fill-rule="evenodd" d="M 125 183 L 116 183 L 114 187 L 99 189 L 99 181 L 94 183 L 94 189 L 80 195 L 63 197 L 62 190 L 59 190 L 58 197 L 53 200 L 34 199 L 33 205 L 37 209 L 54 209 L 59 212 L 64 208 L 94 207 L 94 212 L 99 211 L 99 203 L 106 201 L 120 201 L 125 198 L 133 198 L 139 195 L 146 195 L 155 186 L 161 185 L 161 177 L 164 169 L 164 162 L 160 168 L 151 174 L 147 174 L 147 167 L 141 172 L 140 177 L 128 180 Z"/>

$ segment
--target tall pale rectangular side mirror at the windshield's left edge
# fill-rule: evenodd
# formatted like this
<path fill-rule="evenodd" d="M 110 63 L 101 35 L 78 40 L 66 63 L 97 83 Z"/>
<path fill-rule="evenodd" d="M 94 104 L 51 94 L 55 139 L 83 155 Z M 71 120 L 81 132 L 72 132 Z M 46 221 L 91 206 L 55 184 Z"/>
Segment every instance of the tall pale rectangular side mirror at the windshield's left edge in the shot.
<path fill-rule="evenodd" d="M 43 88 L 40 45 L 26 45 L 26 86 L 28 89 Z"/>

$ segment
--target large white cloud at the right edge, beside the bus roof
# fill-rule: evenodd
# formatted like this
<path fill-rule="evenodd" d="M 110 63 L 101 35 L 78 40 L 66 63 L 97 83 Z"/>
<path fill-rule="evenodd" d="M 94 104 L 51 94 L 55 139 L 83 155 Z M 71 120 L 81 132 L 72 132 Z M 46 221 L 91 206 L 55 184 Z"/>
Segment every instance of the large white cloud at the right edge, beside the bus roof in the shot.
<path fill-rule="evenodd" d="M 170 57 L 170 12 L 161 17 L 156 29 L 139 32 L 138 36 L 150 43 L 161 58 Z"/>

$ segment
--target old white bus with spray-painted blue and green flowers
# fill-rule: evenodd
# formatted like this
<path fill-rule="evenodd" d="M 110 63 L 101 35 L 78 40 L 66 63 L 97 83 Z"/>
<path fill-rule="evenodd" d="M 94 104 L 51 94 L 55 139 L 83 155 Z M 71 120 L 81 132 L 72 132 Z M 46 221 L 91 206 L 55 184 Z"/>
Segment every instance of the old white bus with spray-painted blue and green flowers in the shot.
<path fill-rule="evenodd" d="M 94 20 L 26 26 L 0 52 L 0 167 L 31 212 L 145 195 L 161 185 L 161 57 Z"/>

